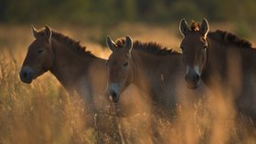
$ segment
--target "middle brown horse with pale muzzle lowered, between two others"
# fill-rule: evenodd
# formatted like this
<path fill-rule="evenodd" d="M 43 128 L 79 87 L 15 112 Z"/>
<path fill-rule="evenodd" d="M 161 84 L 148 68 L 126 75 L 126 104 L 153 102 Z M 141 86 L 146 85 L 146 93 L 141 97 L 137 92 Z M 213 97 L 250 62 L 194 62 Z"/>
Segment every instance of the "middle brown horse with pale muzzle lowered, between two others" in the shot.
<path fill-rule="evenodd" d="M 164 112 L 176 108 L 176 84 L 183 72 L 181 54 L 155 43 L 133 42 L 131 37 L 106 39 L 112 54 L 107 61 L 106 96 L 117 102 L 130 84 L 143 89 L 150 101 Z"/>

